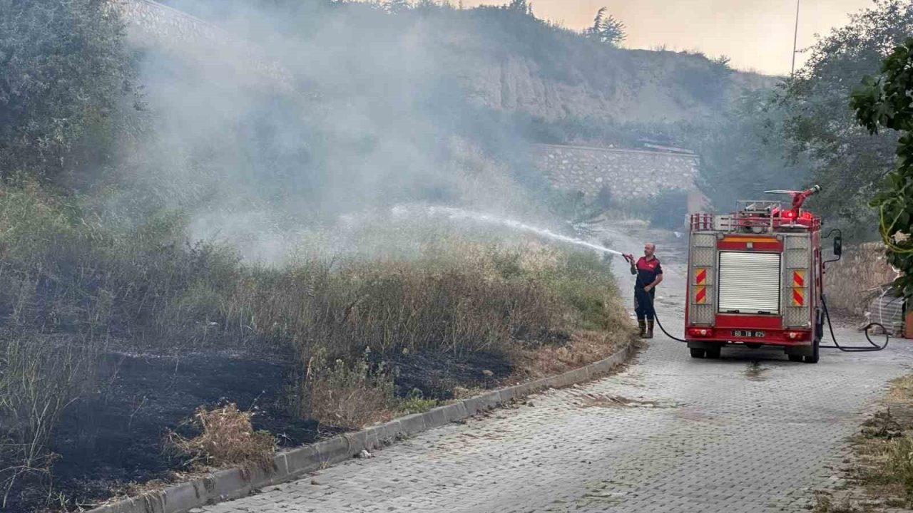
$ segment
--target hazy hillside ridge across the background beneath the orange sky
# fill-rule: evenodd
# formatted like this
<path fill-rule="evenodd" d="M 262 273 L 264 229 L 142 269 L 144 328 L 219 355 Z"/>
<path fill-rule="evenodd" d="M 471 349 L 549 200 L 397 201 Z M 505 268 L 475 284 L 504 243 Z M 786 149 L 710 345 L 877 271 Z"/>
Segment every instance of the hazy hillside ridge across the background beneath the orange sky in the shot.
<path fill-rule="evenodd" d="M 240 37 L 263 38 L 257 24 L 248 23 L 251 13 L 247 10 L 226 10 L 215 0 L 170 0 L 166 4 L 226 26 Z M 409 61 L 428 73 L 425 78 L 457 85 L 459 93 L 476 106 L 546 122 L 593 118 L 654 124 L 714 119 L 741 90 L 770 88 L 777 81 L 735 71 L 725 60 L 700 53 L 614 47 L 518 8 L 457 9 L 429 4 L 391 12 L 381 5 L 311 1 L 303 5 L 270 3 L 257 9 L 258 16 L 265 12 L 280 13 L 286 24 L 284 32 L 309 40 L 313 44 L 310 51 L 325 52 L 328 46 L 336 46 L 358 50 L 352 55 L 372 55 L 372 47 L 405 43 L 430 59 Z M 332 45 L 325 44 L 328 36 Z M 276 52 L 279 56 L 287 53 L 284 48 L 276 48 Z M 299 53 L 279 60 L 302 58 L 310 60 Z M 373 64 L 351 71 L 370 75 Z M 308 81 L 319 87 L 321 80 L 316 84 L 312 78 Z M 335 96 L 341 90 L 345 89 L 322 92 Z M 452 95 L 456 91 L 446 88 L 441 92 Z"/>

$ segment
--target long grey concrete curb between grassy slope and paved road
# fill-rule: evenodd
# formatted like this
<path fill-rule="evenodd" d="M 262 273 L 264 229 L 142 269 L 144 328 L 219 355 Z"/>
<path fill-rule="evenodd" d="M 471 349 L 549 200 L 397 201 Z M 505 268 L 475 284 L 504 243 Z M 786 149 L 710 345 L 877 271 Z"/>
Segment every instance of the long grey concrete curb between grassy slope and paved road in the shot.
<path fill-rule="evenodd" d="M 361 454 L 362 450 L 371 452 L 384 445 L 391 445 L 404 435 L 418 434 L 463 420 L 540 390 L 592 380 L 614 370 L 633 356 L 635 351 L 636 344 L 631 342 L 615 351 L 612 356 L 580 369 L 484 393 L 458 403 L 439 406 L 424 414 L 406 415 L 386 424 L 284 451 L 276 455 L 271 472 L 229 468 L 189 483 L 112 502 L 91 509 L 89 513 L 184 513 L 207 504 L 245 497 L 259 488 L 286 483 L 309 472 L 352 459 Z"/>

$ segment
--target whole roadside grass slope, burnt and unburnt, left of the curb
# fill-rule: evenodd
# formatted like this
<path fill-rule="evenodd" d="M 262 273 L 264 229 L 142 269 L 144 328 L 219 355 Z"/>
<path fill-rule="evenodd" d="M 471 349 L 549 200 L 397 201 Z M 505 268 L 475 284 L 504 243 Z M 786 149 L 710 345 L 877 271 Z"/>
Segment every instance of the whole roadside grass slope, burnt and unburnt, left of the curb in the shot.
<path fill-rule="evenodd" d="M 5 510 L 89 508 L 633 336 L 592 255 L 449 240 L 264 267 L 183 233 L 178 215 L 112 227 L 37 185 L 0 186 Z M 257 450 L 224 454 L 237 437 Z"/>

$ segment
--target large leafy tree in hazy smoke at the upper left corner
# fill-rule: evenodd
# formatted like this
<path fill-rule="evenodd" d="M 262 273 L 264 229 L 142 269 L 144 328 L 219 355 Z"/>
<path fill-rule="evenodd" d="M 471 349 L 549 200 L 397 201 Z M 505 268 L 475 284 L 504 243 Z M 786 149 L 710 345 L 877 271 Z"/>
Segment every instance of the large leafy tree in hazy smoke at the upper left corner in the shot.
<path fill-rule="evenodd" d="M 0 177 L 73 163 L 131 86 L 125 48 L 105 0 L 0 0 Z"/>

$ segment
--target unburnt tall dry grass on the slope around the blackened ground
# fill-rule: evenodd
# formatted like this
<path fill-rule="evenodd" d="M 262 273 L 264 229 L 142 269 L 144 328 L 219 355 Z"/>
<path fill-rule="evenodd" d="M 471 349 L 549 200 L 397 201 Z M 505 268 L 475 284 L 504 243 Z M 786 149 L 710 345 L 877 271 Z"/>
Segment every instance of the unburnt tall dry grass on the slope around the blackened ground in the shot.
<path fill-rule="evenodd" d="M 97 359 L 112 344 L 296 359 L 291 411 L 355 428 L 400 408 L 392 376 L 364 360 L 368 348 L 540 354 L 531 368 L 549 372 L 598 360 L 631 336 L 614 279 L 592 254 L 426 234 L 408 239 L 408 254 L 310 254 L 262 267 L 224 247 L 188 245 L 183 234 L 178 216 L 115 228 L 84 215 L 76 199 L 31 183 L 0 185 L 7 490 L 49 482 L 54 425 L 84 387 L 98 386 Z M 385 244 L 404 240 L 394 235 Z M 222 457 L 210 452 L 215 446 L 198 449 L 194 457 L 206 462 Z"/>

